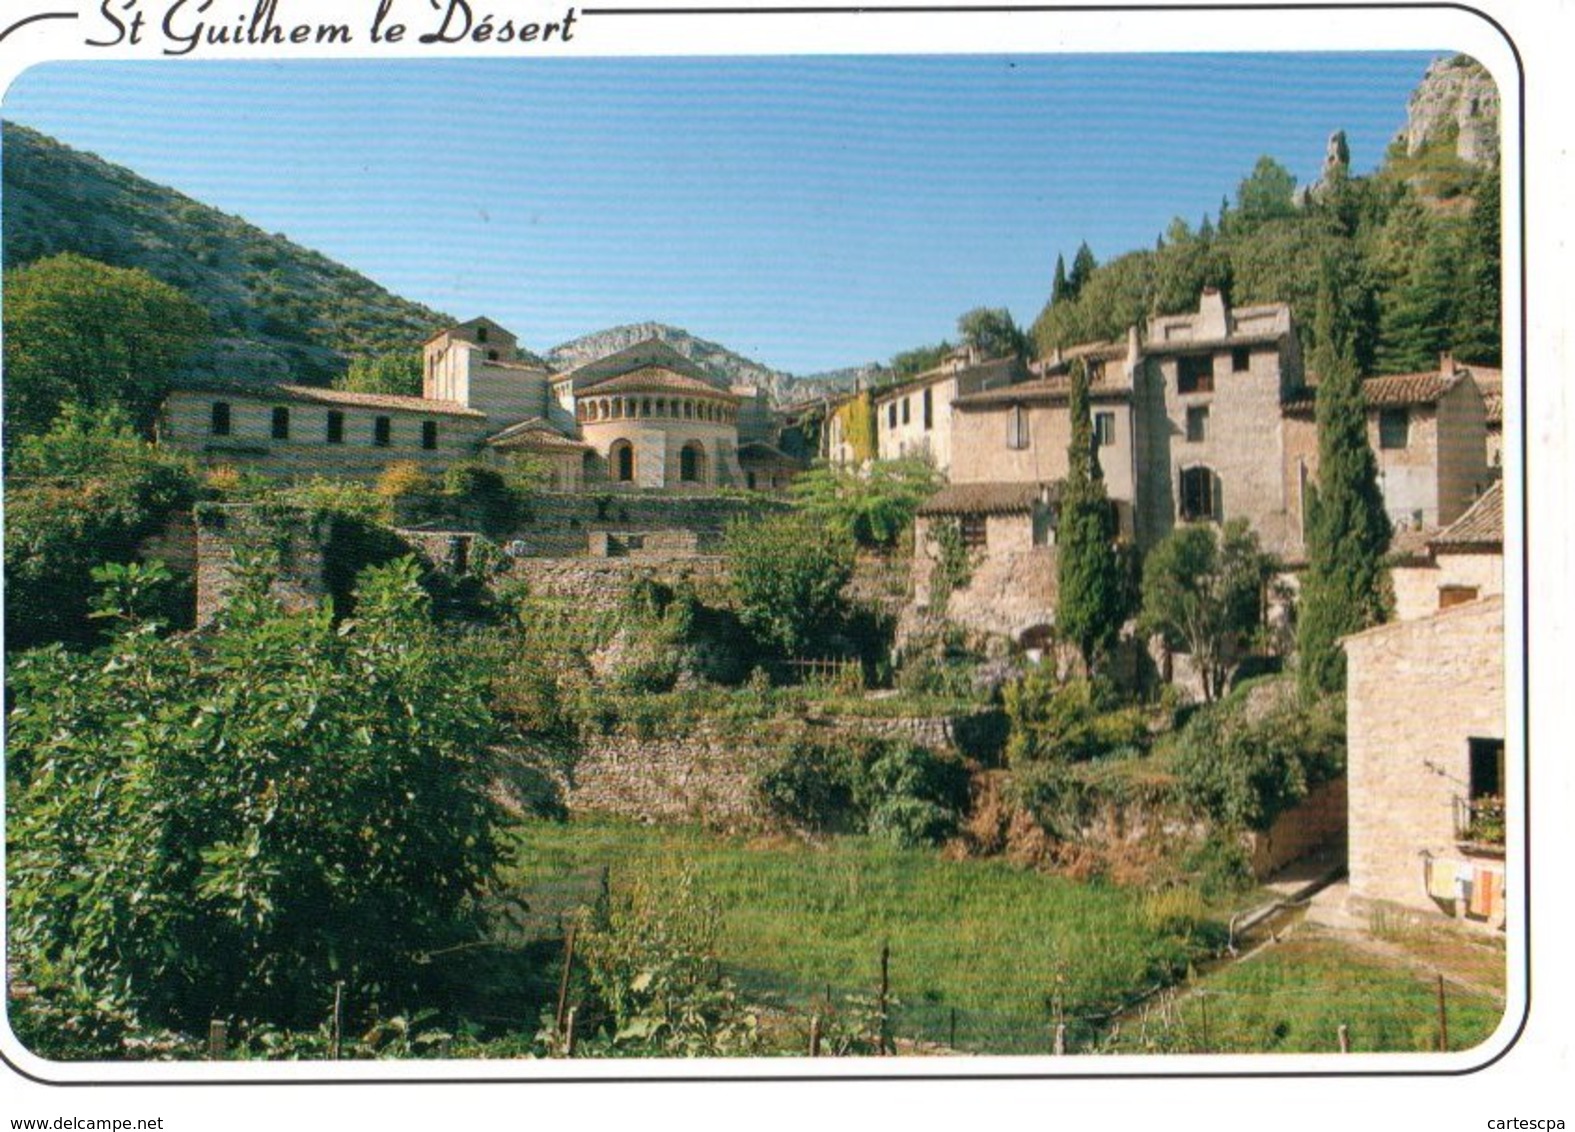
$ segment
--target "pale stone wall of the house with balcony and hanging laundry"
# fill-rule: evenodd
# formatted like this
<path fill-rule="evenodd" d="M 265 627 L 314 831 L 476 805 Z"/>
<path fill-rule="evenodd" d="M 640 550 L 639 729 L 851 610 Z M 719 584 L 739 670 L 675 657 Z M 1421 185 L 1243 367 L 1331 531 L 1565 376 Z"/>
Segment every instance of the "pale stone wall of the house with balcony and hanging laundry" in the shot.
<path fill-rule="evenodd" d="M 1429 863 L 1504 875 L 1455 830 L 1469 740 L 1504 738 L 1504 601 L 1381 625 L 1345 653 L 1351 894 L 1454 915 L 1429 894 Z"/>

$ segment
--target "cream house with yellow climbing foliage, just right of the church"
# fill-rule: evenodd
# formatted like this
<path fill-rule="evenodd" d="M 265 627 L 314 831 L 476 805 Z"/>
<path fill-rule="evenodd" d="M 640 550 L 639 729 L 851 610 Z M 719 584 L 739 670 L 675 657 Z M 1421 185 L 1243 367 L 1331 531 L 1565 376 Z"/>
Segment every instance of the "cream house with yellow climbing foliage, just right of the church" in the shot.
<path fill-rule="evenodd" d="M 945 362 L 909 381 L 873 394 L 876 458 L 928 460 L 950 474 L 954 442 L 951 406 L 959 397 L 1022 381 L 1016 357 L 981 359 L 972 348 L 954 350 Z"/>

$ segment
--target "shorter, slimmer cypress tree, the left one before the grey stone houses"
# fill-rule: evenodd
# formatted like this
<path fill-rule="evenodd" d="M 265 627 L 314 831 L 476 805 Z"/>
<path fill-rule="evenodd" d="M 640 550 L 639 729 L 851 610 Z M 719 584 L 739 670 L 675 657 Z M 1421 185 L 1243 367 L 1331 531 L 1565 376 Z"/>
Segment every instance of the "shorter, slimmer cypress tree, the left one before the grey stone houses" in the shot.
<path fill-rule="evenodd" d="M 1082 653 L 1090 671 L 1115 646 L 1131 611 L 1129 567 L 1115 545 L 1115 510 L 1104 491 L 1088 408 L 1088 367 L 1071 370 L 1066 406 L 1073 439 L 1066 452 L 1060 523 L 1055 532 L 1057 631 Z"/>

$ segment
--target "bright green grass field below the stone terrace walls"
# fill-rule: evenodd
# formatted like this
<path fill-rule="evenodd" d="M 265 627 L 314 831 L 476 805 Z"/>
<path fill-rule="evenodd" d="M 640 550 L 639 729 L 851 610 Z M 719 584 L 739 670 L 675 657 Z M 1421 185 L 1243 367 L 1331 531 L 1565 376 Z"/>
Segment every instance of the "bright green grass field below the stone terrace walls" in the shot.
<path fill-rule="evenodd" d="M 873 997 L 882 943 L 899 1038 L 970 1052 L 1044 1052 L 1054 1019 L 1098 1017 L 1170 981 L 1217 940 L 1189 894 L 1148 897 L 1002 861 L 950 861 L 866 838 L 748 842 L 699 830 L 576 819 L 521 827 L 521 886 L 608 866 L 688 866 L 723 918 L 720 960 L 751 1001 L 784 1012 Z"/>

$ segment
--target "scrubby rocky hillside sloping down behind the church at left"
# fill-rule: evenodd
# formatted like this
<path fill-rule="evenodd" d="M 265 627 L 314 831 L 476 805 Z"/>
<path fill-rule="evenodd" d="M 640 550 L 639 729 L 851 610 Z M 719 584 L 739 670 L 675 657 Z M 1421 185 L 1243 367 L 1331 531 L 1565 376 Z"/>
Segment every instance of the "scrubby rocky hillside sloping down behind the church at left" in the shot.
<path fill-rule="evenodd" d="M 5 266 L 79 252 L 202 302 L 219 335 L 197 372 L 328 384 L 354 354 L 413 350 L 447 315 L 38 131 L 5 123 Z"/>

